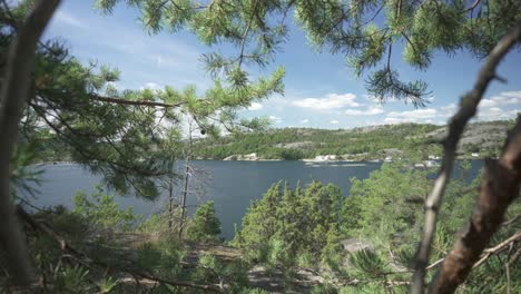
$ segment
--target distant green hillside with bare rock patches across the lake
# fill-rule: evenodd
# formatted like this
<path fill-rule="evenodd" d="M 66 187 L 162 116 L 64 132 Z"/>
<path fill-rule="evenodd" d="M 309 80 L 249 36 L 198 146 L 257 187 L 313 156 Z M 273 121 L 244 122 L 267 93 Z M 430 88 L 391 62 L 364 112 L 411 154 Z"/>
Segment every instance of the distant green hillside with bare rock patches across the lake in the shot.
<path fill-rule="evenodd" d="M 460 156 L 479 153 L 495 156 L 512 121 L 474 122 L 460 144 Z M 303 159 L 336 155 L 344 159 L 383 159 L 386 156 L 441 156 L 446 127 L 424 124 L 371 126 L 353 129 L 282 128 L 200 139 L 195 154 L 204 159 L 224 159 L 256 154 L 260 159 Z"/>

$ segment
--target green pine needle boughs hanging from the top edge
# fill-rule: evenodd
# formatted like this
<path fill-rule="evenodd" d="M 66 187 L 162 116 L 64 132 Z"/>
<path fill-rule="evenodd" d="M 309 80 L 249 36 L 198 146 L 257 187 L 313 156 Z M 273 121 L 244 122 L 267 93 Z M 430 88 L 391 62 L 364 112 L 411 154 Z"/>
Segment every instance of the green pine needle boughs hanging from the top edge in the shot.
<path fill-rule="evenodd" d="M 97 0 L 110 12 L 121 0 Z M 141 22 L 151 32 L 188 30 L 205 45 L 227 42 L 235 56 L 204 56 L 215 76 L 242 84 L 244 63 L 266 66 L 289 36 L 289 21 L 304 29 L 313 47 L 345 56 L 356 76 L 366 77 L 367 90 L 377 99 L 403 99 L 424 106 L 427 84 L 402 81 L 391 56 L 403 48 L 403 59 L 424 70 L 435 52 L 461 50 L 485 57 L 521 18 L 513 0 L 132 0 Z M 292 18 L 293 16 L 293 18 Z M 393 47 L 396 48 L 393 51 Z"/>

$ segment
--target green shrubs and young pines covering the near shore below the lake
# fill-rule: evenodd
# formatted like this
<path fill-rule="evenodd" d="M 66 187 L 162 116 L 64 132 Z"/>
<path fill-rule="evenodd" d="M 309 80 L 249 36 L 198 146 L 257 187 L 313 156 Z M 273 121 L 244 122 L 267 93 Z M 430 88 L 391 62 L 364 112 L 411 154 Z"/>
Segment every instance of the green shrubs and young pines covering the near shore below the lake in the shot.
<path fill-rule="evenodd" d="M 464 180 L 468 167 L 463 164 L 448 188 L 430 276 L 472 208 L 479 179 Z M 29 219 L 31 258 L 43 277 L 35 290 L 407 293 L 423 198 L 432 186 L 427 174 L 385 164 L 367 179 L 351 179 L 350 196 L 332 184 L 297 184 L 292 189 L 288 183 L 275 183 L 252 204 L 227 246 L 219 238 L 213 202 L 198 207 L 179 236 L 178 210 L 168 215 L 165 209 L 142 219 L 131 208 L 119 208 L 101 188 L 92 195 L 79 193 L 70 212 L 53 207 L 22 214 L 22 219 Z M 491 246 L 519 235 L 520 214 L 518 199 L 508 213 L 513 220 L 505 222 Z M 170 217 L 173 227 L 167 225 Z M 461 293 L 521 291 L 521 281 L 515 278 L 521 264 L 513 258 L 521 249 L 519 241 L 484 255 Z M 260 272 L 265 282 L 252 271 Z M 303 271 L 313 273 L 315 280 L 303 284 Z M 8 287 L 6 278 L 2 275 L 1 281 Z"/>

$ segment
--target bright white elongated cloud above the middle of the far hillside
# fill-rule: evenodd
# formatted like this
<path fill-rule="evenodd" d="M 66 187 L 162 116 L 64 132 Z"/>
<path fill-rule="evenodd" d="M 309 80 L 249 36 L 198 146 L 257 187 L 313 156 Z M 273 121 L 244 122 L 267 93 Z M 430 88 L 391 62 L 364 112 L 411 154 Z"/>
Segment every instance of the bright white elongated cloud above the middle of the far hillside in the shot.
<path fill-rule="evenodd" d="M 356 95 L 354 94 L 328 94 L 324 98 L 304 98 L 299 100 L 294 100 L 291 104 L 296 107 L 311 108 L 315 110 L 330 110 L 343 107 L 362 106 L 355 100 Z"/>

